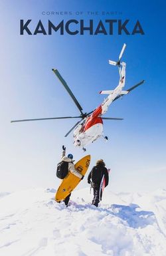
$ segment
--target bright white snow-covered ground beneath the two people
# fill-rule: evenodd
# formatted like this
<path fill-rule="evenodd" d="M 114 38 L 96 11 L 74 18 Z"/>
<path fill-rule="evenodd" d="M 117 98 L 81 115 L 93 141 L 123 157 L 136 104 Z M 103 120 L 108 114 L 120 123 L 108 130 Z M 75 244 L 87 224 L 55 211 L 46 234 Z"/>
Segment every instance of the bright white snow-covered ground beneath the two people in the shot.
<path fill-rule="evenodd" d="M 0 255 L 166 255 L 166 190 L 113 193 L 108 187 L 99 207 L 90 204 L 90 188 L 73 192 L 68 207 L 54 193 L 0 193 Z"/>

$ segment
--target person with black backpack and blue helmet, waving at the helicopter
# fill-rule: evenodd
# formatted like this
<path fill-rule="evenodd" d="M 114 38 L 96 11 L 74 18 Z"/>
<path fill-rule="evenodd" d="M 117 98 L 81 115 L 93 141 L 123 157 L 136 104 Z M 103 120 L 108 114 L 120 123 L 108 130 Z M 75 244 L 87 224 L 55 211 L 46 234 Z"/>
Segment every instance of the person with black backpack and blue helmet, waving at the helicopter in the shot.
<path fill-rule="evenodd" d="M 74 160 L 72 154 L 66 155 L 66 147 L 64 145 L 62 146 L 62 156 L 61 156 L 61 161 L 57 165 L 57 170 L 56 170 L 56 176 L 63 180 L 67 175 L 68 172 L 71 172 L 74 174 L 76 177 L 80 178 L 81 180 L 84 179 L 84 176 L 80 174 L 75 168 L 74 168 Z M 68 202 L 70 200 L 70 195 L 71 193 L 63 200 L 66 207 L 68 207 Z"/>

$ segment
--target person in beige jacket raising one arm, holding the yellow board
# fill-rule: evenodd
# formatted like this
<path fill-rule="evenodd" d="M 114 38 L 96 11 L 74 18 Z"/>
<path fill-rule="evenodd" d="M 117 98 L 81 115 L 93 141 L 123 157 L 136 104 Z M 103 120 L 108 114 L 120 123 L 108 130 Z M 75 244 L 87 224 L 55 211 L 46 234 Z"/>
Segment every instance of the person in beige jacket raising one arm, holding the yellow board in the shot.
<path fill-rule="evenodd" d="M 80 174 L 80 172 L 78 172 L 75 168 L 74 168 L 74 160 L 73 160 L 73 156 L 72 154 L 68 154 L 68 156 L 66 155 L 66 147 L 64 147 L 64 145 L 62 146 L 62 156 L 61 156 L 61 162 L 66 162 L 68 163 L 67 168 L 68 168 L 68 172 L 70 171 L 72 174 L 74 174 L 76 177 L 80 178 L 81 180 L 84 179 L 84 176 L 82 174 Z M 68 174 L 67 172 L 67 174 Z M 66 174 L 66 175 L 67 175 Z M 65 176 L 66 177 L 66 176 Z M 64 177 L 64 178 L 65 178 Z M 71 193 L 64 199 L 64 203 L 66 205 L 66 207 L 68 207 L 68 201 L 70 200 L 70 195 Z"/>

